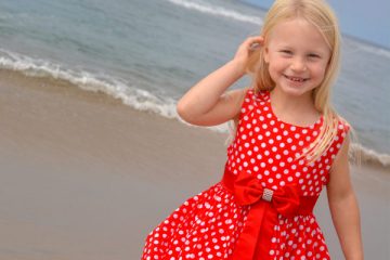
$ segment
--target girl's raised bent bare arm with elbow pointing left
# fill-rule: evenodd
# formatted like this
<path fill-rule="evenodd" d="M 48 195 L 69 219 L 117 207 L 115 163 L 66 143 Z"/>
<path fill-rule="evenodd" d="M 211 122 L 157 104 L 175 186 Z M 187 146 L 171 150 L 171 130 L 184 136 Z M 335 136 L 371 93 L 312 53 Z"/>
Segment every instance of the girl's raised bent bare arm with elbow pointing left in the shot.
<path fill-rule="evenodd" d="M 225 92 L 245 75 L 250 46 L 262 41 L 250 37 L 238 48 L 234 58 L 202 79 L 178 102 L 181 118 L 197 126 L 214 126 L 235 119 L 244 100 L 245 89 Z"/>

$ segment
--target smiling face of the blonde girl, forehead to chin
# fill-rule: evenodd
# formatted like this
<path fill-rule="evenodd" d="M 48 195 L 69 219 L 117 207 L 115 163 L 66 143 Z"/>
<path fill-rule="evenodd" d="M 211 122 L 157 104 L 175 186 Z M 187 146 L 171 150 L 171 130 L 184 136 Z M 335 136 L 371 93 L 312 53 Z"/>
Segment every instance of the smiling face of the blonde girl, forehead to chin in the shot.
<path fill-rule="evenodd" d="M 329 58 L 330 50 L 323 36 L 299 17 L 276 25 L 264 48 L 264 61 L 275 88 L 292 95 L 310 93 L 318 87 Z"/>

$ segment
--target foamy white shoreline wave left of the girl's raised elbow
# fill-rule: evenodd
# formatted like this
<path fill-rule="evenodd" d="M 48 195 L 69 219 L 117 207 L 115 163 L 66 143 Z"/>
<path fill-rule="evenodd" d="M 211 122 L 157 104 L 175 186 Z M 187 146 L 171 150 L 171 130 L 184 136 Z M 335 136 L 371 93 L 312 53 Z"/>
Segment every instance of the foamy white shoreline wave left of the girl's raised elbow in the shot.
<path fill-rule="evenodd" d="M 0 68 L 22 73 L 29 77 L 65 80 L 80 89 L 103 92 L 139 110 L 153 112 L 167 118 L 177 118 L 176 101 L 131 87 L 126 80 L 104 74 L 74 70 L 52 62 L 29 57 L 0 49 Z"/>

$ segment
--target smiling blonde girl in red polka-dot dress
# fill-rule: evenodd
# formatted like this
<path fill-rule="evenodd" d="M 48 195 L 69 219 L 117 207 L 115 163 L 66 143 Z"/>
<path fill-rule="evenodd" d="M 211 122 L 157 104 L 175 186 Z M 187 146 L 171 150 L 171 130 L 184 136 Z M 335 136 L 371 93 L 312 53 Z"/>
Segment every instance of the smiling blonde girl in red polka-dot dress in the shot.
<path fill-rule="evenodd" d="M 261 36 L 178 103 L 190 123 L 233 120 L 222 180 L 146 238 L 142 259 L 329 259 L 313 207 L 326 185 L 346 259 L 363 259 L 350 125 L 330 106 L 339 29 L 322 0 L 276 0 Z M 249 73 L 252 86 L 225 90 Z"/>

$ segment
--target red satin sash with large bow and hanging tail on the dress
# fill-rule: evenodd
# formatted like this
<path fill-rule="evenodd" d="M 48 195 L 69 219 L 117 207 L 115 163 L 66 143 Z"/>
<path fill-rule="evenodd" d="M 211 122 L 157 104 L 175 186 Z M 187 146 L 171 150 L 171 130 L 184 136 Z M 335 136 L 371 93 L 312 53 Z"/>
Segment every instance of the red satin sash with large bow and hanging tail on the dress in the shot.
<path fill-rule="evenodd" d="M 318 196 L 300 196 L 298 185 L 277 190 L 263 187 L 256 176 L 240 171 L 233 174 L 225 165 L 223 186 L 238 205 L 250 206 L 243 232 L 233 251 L 233 260 L 271 259 L 269 255 L 278 214 L 291 218 L 313 212 Z"/>

